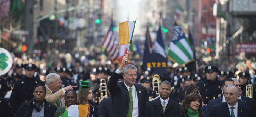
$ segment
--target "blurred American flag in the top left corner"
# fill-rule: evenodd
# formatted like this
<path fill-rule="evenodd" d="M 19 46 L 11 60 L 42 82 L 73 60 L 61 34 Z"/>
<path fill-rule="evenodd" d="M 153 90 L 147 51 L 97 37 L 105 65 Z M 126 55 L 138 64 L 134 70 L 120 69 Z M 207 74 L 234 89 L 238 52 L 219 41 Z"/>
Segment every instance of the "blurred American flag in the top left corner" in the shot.
<path fill-rule="evenodd" d="M 10 11 L 10 0 L 0 0 L 0 18 L 7 17 Z"/>

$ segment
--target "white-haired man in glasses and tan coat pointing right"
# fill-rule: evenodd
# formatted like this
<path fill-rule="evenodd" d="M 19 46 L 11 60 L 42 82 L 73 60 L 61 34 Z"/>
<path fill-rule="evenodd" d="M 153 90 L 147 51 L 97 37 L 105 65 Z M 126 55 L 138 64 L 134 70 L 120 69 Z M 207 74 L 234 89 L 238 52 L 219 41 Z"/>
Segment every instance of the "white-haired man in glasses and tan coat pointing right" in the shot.
<path fill-rule="evenodd" d="M 57 73 L 50 73 L 46 76 L 46 101 L 54 104 L 58 108 L 65 107 L 65 101 L 64 101 L 64 94 L 67 90 L 73 89 L 73 85 L 69 85 L 67 87 L 64 87 L 62 89 L 62 83 L 63 81 L 60 79 L 60 75 Z"/>

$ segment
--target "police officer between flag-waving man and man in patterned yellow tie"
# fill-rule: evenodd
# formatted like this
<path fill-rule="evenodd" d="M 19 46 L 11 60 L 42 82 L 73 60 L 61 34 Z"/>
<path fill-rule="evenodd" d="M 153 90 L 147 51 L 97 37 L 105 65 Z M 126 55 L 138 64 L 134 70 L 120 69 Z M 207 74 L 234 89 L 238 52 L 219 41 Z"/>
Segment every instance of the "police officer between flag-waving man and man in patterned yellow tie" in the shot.
<path fill-rule="evenodd" d="M 156 91 L 150 89 L 150 84 L 151 82 L 149 77 L 144 77 L 143 79 L 141 79 L 141 85 L 147 89 L 146 102 L 150 101 L 152 98 L 157 97 Z"/>

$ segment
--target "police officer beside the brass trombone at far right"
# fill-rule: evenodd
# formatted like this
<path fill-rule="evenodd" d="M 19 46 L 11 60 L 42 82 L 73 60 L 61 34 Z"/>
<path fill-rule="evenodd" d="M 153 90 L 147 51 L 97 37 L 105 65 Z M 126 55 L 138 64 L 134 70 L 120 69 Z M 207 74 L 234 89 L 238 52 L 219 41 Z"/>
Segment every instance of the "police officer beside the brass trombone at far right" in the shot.
<path fill-rule="evenodd" d="M 250 73 L 249 72 L 240 72 L 238 74 L 239 77 L 239 82 L 241 83 L 241 90 L 243 96 L 246 96 L 246 85 L 248 85 L 248 80 L 250 79 Z M 256 98 L 256 92 L 255 92 L 255 87 L 253 87 L 252 90 L 252 97 L 255 99 Z"/>

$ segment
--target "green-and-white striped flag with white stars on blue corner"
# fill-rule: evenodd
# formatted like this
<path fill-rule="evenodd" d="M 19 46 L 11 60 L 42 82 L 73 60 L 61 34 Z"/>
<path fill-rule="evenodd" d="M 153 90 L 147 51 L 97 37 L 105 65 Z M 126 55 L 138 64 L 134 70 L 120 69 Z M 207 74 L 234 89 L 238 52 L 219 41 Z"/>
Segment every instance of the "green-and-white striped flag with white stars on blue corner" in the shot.
<path fill-rule="evenodd" d="M 193 49 L 182 29 L 175 22 L 171 42 L 168 48 L 168 58 L 182 66 L 195 61 Z"/>

